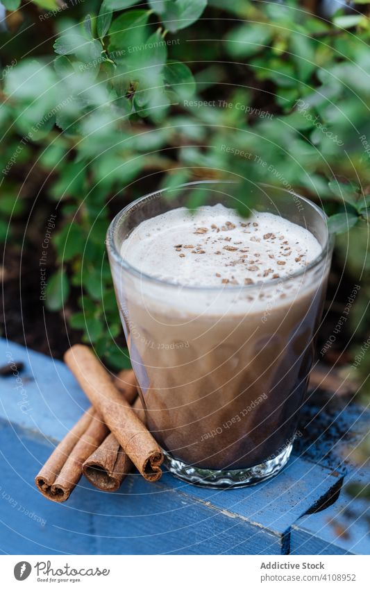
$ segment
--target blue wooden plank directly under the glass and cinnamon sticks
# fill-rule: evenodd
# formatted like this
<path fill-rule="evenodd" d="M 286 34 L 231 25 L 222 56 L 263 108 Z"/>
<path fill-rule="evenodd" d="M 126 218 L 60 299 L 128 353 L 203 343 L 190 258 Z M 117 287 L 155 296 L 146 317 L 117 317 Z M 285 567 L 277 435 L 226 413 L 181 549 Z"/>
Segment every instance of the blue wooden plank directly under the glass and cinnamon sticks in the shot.
<path fill-rule="evenodd" d="M 82 479 L 66 504 L 47 502 L 33 477 L 87 400 L 58 361 L 0 340 L 0 364 L 7 361 L 26 368 L 21 384 L 17 375 L 0 379 L 3 490 L 47 520 L 42 527 L 19 509 L 13 522 L 15 508 L 1 500 L 10 553 L 42 554 L 48 545 L 72 554 L 281 554 L 292 524 L 338 484 L 330 469 L 295 456 L 276 479 L 250 488 L 196 488 L 169 474 L 151 485 L 133 475 L 114 495 Z"/>

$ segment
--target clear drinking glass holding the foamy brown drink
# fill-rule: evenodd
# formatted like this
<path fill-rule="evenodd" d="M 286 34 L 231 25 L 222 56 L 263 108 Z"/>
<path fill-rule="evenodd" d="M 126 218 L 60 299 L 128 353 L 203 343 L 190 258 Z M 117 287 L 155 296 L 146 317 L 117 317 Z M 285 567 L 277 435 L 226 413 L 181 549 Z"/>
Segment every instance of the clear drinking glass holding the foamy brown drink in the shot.
<path fill-rule="evenodd" d="M 253 185 L 253 210 L 312 232 L 316 259 L 282 278 L 216 287 L 181 286 L 128 264 L 123 241 L 142 221 L 187 206 L 194 190 L 204 205 L 232 208 L 237 198 L 233 183 L 205 180 L 135 200 L 110 224 L 110 267 L 146 425 L 168 470 L 193 484 L 245 486 L 276 475 L 299 435 L 333 239 L 310 200 Z M 159 256 L 153 270 L 163 275 L 161 264 Z"/>

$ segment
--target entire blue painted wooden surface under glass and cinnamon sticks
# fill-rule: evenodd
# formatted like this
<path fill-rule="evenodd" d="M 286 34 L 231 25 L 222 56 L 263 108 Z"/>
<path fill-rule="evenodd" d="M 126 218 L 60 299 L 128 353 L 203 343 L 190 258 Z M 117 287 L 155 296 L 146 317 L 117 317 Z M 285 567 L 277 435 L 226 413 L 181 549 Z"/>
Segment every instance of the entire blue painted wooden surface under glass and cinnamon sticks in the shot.
<path fill-rule="evenodd" d="M 24 363 L 22 373 L 17 362 Z M 287 467 L 258 486 L 197 488 L 169 473 L 150 484 L 133 474 L 113 494 L 81 479 L 68 502 L 55 504 L 33 479 L 87 399 L 62 362 L 0 340 L 0 365 L 6 364 L 10 375 L 0 377 L 3 553 L 369 554 L 365 506 L 341 490 L 343 481 L 369 478 L 369 470 L 359 472 L 341 458 L 344 436 L 361 436 L 361 408 L 322 410 L 309 402 Z M 345 533 L 338 536 L 341 526 Z"/>

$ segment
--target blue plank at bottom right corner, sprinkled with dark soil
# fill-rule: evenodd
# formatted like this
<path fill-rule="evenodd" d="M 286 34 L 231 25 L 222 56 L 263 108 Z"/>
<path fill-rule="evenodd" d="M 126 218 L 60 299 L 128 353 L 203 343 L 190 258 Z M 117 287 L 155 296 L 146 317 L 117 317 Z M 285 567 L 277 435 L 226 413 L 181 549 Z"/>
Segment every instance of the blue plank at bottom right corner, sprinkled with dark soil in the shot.
<path fill-rule="evenodd" d="M 346 398 L 330 400 L 328 395 L 320 396 L 315 395 L 316 402 L 306 406 L 301 416 L 302 429 L 309 425 L 316 434 L 301 438 L 299 445 L 310 460 L 346 473 L 344 488 L 333 505 L 304 515 L 292 525 L 290 552 L 370 554 L 369 502 L 346 493 L 349 483 L 369 484 L 370 466 L 359 468 L 345 459 L 348 447 L 358 445 L 369 429 L 369 411 L 359 404 L 349 404 Z"/>

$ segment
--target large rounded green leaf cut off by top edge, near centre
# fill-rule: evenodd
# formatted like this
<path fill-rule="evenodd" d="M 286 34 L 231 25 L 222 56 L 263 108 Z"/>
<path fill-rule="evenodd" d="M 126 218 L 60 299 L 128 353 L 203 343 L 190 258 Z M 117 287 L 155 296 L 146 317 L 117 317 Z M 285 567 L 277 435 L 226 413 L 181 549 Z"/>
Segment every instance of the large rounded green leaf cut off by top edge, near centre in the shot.
<path fill-rule="evenodd" d="M 149 1 L 149 6 L 160 15 L 167 30 L 175 33 L 201 17 L 207 0 Z"/>

